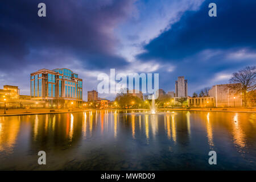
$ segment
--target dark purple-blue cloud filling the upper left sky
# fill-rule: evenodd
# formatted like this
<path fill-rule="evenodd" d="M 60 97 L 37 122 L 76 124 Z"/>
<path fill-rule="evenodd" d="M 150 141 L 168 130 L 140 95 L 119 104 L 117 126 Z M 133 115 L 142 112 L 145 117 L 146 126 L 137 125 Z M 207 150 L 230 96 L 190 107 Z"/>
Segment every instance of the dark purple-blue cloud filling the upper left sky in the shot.
<path fill-rule="evenodd" d="M 38 16 L 40 2 L 46 3 L 45 18 Z M 70 55 L 84 61 L 86 68 L 125 65 L 126 60 L 115 54 L 118 40 L 113 28 L 126 17 L 132 3 L 130 0 L 3 0 L 0 2 L 1 68 L 15 69 L 15 65 L 24 66 L 31 61 L 40 64 L 40 54 L 35 52 L 55 51 L 63 52 L 63 56 L 52 59 L 51 53 L 44 54 L 41 61 L 61 62 Z"/>

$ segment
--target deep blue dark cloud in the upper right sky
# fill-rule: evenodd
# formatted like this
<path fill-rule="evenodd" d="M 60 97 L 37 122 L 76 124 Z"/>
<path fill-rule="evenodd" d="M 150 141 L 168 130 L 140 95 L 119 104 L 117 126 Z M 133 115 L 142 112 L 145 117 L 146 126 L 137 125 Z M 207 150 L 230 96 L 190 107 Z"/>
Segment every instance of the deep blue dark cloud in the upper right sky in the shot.
<path fill-rule="evenodd" d="M 217 5 L 217 17 L 208 5 Z M 187 11 L 171 29 L 152 40 L 139 59 L 180 60 L 204 49 L 256 48 L 256 1 L 205 1 L 199 11 Z"/>

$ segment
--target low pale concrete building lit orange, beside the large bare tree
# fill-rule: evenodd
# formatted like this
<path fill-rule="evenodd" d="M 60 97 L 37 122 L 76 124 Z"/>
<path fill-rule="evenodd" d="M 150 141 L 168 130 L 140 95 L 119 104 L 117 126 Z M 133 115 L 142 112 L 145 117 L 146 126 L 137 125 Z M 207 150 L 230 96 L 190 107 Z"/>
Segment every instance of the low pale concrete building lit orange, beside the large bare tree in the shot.
<path fill-rule="evenodd" d="M 236 88 L 234 84 L 214 85 L 209 90 L 209 96 L 215 98 L 216 107 L 241 107 L 241 93 L 234 88 Z"/>

